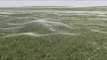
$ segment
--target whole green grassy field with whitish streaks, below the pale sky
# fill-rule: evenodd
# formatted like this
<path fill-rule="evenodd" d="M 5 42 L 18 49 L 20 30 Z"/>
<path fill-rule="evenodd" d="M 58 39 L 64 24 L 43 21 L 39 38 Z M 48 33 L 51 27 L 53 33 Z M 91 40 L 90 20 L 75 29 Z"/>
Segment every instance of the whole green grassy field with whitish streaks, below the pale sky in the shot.
<path fill-rule="evenodd" d="M 107 7 L 0 8 L 0 60 L 107 60 Z"/>

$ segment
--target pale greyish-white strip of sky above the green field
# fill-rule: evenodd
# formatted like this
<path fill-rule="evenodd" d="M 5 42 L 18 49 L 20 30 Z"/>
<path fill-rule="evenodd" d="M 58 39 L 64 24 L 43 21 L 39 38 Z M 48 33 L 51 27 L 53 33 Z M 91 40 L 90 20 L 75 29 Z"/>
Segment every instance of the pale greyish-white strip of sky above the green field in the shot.
<path fill-rule="evenodd" d="M 70 6 L 89 7 L 107 6 L 107 1 L 0 1 L 0 7 L 23 7 L 23 6 Z"/>

